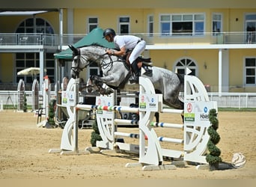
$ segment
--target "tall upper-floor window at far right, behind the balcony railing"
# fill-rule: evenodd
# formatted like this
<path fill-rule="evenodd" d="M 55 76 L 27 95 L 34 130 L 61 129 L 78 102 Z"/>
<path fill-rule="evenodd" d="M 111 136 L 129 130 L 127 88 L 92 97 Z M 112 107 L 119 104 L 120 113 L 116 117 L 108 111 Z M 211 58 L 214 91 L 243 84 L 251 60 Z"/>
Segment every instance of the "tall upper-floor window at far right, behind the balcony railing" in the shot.
<path fill-rule="evenodd" d="M 256 43 L 256 14 L 246 15 L 246 42 Z"/>

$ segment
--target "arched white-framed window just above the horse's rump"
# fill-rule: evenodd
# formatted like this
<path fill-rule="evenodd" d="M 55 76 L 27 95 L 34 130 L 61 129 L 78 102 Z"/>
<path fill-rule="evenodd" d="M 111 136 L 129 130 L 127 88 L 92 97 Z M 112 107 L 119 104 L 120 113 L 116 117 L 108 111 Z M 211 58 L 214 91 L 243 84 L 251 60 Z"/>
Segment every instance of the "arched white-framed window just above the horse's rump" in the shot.
<path fill-rule="evenodd" d="M 191 76 L 197 76 L 197 66 L 195 64 L 195 61 L 193 61 L 191 58 L 181 58 L 179 61 L 177 61 L 174 69 L 175 72 L 180 74 L 186 74 L 186 68 L 189 68 L 189 70 L 192 71 L 189 75 Z"/>

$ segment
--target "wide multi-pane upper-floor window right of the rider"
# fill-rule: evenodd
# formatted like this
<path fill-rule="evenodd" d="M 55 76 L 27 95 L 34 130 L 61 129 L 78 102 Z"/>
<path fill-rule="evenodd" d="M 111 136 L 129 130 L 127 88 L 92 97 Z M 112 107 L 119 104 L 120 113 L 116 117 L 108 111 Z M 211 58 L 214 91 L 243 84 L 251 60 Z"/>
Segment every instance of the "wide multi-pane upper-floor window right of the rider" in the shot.
<path fill-rule="evenodd" d="M 204 14 L 174 14 L 160 16 L 162 35 L 204 34 Z"/>

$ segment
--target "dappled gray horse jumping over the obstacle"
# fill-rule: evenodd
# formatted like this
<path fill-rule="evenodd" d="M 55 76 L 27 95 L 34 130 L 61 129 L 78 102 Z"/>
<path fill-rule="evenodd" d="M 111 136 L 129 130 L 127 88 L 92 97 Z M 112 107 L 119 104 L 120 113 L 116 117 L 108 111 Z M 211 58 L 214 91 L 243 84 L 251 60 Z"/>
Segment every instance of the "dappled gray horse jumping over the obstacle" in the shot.
<path fill-rule="evenodd" d="M 94 83 L 103 85 L 104 83 L 113 89 L 128 89 L 138 91 L 138 84 L 130 84 L 129 78 L 132 71 L 126 65 L 124 59 L 115 55 L 106 55 L 106 47 L 92 44 L 75 48 L 73 50 L 73 62 L 70 76 L 72 78 L 79 77 L 79 72 L 88 67 L 91 63 L 96 62 L 103 76 L 94 76 Z M 165 70 L 161 67 L 148 67 L 143 65 L 141 69 L 145 69 L 141 76 L 147 77 L 153 83 L 156 93 L 162 93 L 163 102 L 172 108 L 183 109 L 183 102 L 179 98 L 180 92 L 184 91 L 184 76 Z"/>

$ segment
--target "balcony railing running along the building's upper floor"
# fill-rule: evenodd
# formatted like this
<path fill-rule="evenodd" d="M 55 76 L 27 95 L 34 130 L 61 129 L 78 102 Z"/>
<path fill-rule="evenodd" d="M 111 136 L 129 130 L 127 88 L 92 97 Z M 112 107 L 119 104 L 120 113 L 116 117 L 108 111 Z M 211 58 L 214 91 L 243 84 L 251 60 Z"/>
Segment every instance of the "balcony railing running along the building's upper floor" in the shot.
<path fill-rule="evenodd" d="M 86 34 L 63 34 L 62 45 L 76 43 Z M 179 34 L 144 34 L 135 33 L 146 40 L 147 45 L 153 44 L 247 44 L 256 43 L 256 32 L 219 32 L 219 33 L 179 33 Z M 6 45 L 43 45 L 59 46 L 58 34 L 3 34 L 0 33 L 0 46 Z"/>

